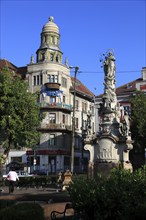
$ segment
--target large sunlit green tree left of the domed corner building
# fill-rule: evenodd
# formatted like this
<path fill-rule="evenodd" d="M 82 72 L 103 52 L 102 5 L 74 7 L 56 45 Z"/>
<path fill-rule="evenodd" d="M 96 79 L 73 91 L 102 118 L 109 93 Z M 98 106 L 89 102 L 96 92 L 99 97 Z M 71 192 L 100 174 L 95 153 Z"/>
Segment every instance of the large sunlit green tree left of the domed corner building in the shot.
<path fill-rule="evenodd" d="M 32 147 L 39 141 L 39 106 L 27 83 L 7 68 L 0 73 L 0 144 L 7 158 L 11 148 Z"/>

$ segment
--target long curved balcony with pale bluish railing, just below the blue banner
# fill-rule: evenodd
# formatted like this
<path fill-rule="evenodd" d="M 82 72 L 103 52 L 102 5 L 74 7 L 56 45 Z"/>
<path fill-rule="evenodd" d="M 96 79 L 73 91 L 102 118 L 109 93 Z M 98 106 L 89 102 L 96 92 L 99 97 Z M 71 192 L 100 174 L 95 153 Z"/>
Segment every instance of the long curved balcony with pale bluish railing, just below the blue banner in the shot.
<path fill-rule="evenodd" d="M 69 111 L 71 112 L 72 111 L 72 105 L 69 105 L 69 104 L 65 104 L 65 103 L 62 103 L 62 102 L 53 102 L 53 103 L 46 103 L 46 102 L 42 102 L 42 103 L 39 103 L 39 106 L 40 108 L 43 110 L 43 109 L 55 109 L 56 111 L 59 110 L 59 111 Z"/>

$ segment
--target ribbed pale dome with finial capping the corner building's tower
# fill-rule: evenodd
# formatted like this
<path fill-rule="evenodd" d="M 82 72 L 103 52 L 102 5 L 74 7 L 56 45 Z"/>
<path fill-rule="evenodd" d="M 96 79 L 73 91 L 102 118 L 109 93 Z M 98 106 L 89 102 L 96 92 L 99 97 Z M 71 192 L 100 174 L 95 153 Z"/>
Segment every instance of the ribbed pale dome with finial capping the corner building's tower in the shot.
<path fill-rule="evenodd" d="M 59 28 L 54 23 L 54 18 L 52 16 L 49 17 L 49 21 L 44 25 L 42 32 L 55 32 L 59 34 Z"/>

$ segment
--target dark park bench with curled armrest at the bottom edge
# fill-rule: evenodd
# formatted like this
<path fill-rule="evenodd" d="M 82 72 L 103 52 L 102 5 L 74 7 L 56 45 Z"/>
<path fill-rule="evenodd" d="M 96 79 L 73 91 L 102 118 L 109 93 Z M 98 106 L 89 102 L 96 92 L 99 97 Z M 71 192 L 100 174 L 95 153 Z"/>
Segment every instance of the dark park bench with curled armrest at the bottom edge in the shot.
<path fill-rule="evenodd" d="M 66 203 L 63 212 L 52 211 L 51 212 L 51 220 L 54 220 L 54 219 L 73 219 L 73 215 L 67 215 L 67 210 L 69 210 L 69 209 L 73 209 L 71 203 Z"/>

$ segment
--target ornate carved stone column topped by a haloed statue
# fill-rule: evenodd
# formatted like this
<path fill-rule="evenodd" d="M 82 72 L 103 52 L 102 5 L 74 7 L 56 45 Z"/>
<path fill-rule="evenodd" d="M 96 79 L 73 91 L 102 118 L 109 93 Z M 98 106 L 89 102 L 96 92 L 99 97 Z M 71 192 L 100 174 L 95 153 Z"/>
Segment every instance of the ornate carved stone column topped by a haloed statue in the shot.
<path fill-rule="evenodd" d="M 90 151 L 89 163 L 94 164 L 94 170 L 105 175 L 119 163 L 124 169 L 132 170 L 129 161 L 129 151 L 133 148 L 130 118 L 127 112 L 123 112 L 121 117 L 121 107 L 117 102 L 115 61 L 112 51 L 103 60 L 104 94 L 99 108 L 99 132 L 96 137 L 86 137 L 84 147 Z"/>

